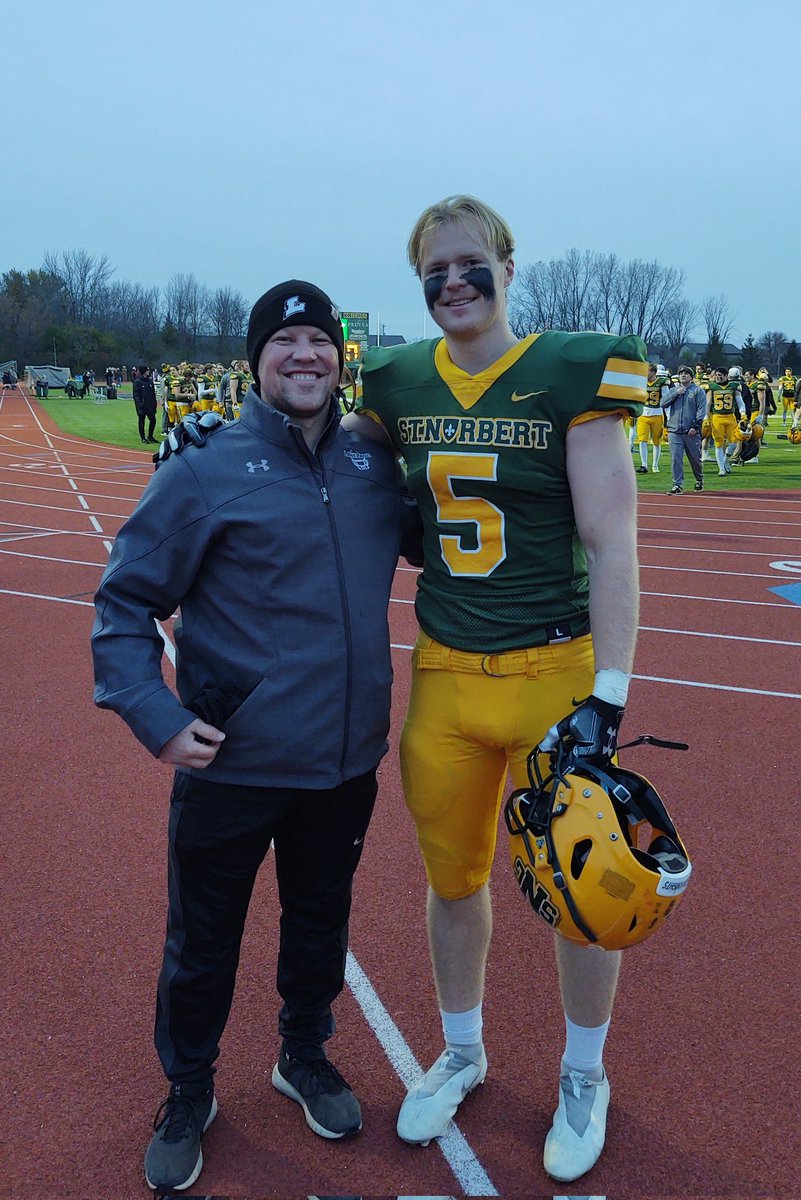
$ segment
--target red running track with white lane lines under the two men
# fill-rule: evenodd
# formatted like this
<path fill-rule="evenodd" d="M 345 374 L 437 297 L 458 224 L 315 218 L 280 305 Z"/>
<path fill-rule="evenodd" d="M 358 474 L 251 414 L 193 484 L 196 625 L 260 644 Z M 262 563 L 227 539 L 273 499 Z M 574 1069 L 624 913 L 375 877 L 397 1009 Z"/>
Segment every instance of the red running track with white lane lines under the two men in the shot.
<path fill-rule="evenodd" d="M 147 1194 L 141 1154 L 163 1094 L 150 1038 L 169 770 L 92 707 L 88 638 L 110 541 L 150 473 L 144 454 L 66 437 L 35 401 L 2 396 L 2 1200 Z M 801 1160 L 801 623 L 771 588 L 801 590 L 801 499 L 644 496 L 639 524 L 643 628 L 626 731 L 692 749 L 638 749 L 626 762 L 658 780 L 695 875 L 667 929 L 624 962 L 607 1052 L 607 1150 L 572 1187 L 615 1200 L 789 1196 Z M 393 746 L 356 880 L 350 988 L 331 1046 L 362 1100 L 365 1129 L 344 1144 L 315 1138 L 270 1085 L 277 910 L 267 863 L 195 1195 L 531 1200 L 556 1190 L 541 1165 L 562 1040 L 555 972 L 502 842 L 489 1076 L 441 1145 L 410 1147 L 395 1134 L 402 1080 L 440 1048 L 423 876 L 396 760 L 414 586 L 415 572 L 399 570 Z"/>

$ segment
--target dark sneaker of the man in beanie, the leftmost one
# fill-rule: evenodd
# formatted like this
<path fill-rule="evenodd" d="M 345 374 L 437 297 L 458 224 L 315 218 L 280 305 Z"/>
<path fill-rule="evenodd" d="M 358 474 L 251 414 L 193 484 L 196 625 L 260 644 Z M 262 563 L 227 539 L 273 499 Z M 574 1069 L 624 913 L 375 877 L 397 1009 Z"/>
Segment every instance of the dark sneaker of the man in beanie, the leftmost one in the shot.
<path fill-rule="evenodd" d="M 145 1153 L 145 1180 L 153 1192 L 182 1192 L 203 1169 L 200 1138 L 217 1116 L 213 1088 L 183 1096 L 173 1084 L 153 1120 L 156 1133 Z"/>

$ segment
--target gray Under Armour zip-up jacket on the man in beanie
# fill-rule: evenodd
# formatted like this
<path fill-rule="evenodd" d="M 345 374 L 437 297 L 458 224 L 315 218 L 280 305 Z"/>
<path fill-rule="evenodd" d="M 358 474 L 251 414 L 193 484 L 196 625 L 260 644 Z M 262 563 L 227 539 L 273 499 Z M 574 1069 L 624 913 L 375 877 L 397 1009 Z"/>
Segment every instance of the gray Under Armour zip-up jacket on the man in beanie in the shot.
<path fill-rule="evenodd" d="M 332 401 L 315 452 L 251 389 L 241 419 L 156 472 L 96 600 L 95 702 L 157 755 L 195 715 L 225 732 L 188 774 L 336 787 L 386 751 L 387 606 L 416 512 L 389 449 Z M 180 606 L 179 697 L 155 624 Z"/>

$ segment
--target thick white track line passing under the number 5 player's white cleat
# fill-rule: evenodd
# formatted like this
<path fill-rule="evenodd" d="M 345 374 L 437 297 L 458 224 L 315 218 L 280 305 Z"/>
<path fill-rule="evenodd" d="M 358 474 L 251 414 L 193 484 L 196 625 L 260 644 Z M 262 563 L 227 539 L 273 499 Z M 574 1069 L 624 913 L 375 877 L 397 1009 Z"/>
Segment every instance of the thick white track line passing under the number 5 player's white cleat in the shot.
<path fill-rule="evenodd" d="M 416 1084 L 422 1079 L 423 1069 L 351 950 L 348 950 L 345 961 L 345 979 L 359 1007 L 365 1014 L 367 1024 L 390 1060 L 396 1075 L 406 1088 Z M 454 1121 L 451 1121 L 444 1136 L 438 1139 L 438 1145 L 464 1195 L 498 1195 L 489 1176 L 474 1154 L 464 1134 L 457 1128 Z"/>

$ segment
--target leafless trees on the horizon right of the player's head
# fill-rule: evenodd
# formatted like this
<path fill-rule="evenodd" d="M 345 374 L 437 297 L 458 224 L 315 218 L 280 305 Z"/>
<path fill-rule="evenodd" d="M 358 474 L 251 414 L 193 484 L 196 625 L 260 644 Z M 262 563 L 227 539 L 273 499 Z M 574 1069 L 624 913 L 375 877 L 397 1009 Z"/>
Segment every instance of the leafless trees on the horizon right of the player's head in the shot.
<path fill-rule="evenodd" d="M 510 299 L 512 329 L 518 337 L 543 329 L 637 334 L 651 358 L 671 371 L 698 354 L 711 365 L 727 365 L 724 347 L 734 316 L 725 296 L 710 295 L 697 305 L 682 288 L 683 271 L 656 260 L 624 262 L 616 254 L 571 250 L 564 258 L 517 272 Z M 693 338 L 699 329 L 705 336 Z M 691 343 L 700 343 L 700 350 L 689 350 Z M 788 366 L 801 370 L 797 342 L 781 330 L 759 338 L 749 334 L 737 349 L 737 365 L 743 368 L 765 366 L 773 374 Z"/>

